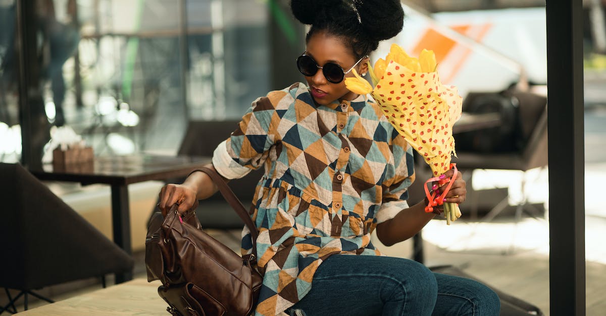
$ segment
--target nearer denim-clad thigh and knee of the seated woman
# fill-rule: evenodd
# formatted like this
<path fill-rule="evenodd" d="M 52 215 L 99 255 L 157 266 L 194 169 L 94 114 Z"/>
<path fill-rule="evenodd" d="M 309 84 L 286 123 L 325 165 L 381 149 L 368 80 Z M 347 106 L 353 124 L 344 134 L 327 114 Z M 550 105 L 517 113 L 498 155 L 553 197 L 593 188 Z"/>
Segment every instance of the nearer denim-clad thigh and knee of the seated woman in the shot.
<path fill-rule="evenodd" d="M 318 268 L 290 315 L 431 315 L 438 285 L 421 263 L 405 258 L 332 255 Z"/>

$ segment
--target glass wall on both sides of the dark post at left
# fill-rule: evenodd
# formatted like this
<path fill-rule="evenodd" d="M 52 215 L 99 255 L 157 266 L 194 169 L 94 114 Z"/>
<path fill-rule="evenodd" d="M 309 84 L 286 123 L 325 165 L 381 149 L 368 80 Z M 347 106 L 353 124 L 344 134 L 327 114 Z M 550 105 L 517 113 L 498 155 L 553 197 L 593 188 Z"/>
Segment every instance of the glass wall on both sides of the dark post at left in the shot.
<path fill-rule="evenodd" d="M 28 104 L 43 108 L 46 120 L 36 128 L 50 134 L 67 125 L 95 154 L 175 154 L 188 121 L 238 119 L 269 89 L 262 1 L 36 0 L 30 8 L 26 2 L 19 2 L 22 14 L 35 21 L 28 24 L 35 25 L 35 40 L 26 42 L 38 68 L 28 81 L 39 99 Z M 14 0 L 0 0 L 5 162 L 21 154 L 17 8 Z"/>

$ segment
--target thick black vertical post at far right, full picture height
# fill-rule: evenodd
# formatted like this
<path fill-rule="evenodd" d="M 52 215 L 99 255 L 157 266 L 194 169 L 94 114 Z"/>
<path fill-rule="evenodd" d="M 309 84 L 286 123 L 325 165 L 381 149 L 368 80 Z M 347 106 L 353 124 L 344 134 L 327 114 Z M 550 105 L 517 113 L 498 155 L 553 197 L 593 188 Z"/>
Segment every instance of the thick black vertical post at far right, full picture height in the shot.
<path fill-rule="evenodd" d="M 551 315 L 585 315 L 582 9 L 547 1 Z"/>

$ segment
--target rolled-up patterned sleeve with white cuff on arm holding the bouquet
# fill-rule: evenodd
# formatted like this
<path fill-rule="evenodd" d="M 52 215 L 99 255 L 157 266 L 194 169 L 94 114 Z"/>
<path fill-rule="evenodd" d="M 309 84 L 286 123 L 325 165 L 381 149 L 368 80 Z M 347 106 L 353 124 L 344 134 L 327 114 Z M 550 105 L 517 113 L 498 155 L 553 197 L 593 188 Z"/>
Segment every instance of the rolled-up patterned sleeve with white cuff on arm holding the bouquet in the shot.
<path fill-rule="evenodd" d="M 408 186 L 415 180 L 413 148 L 397 131 L 393 133 L 393 164 L 387 166 L 381 208 L 376 214 L 377 223 L 393 219 L 402 209 L 408 208 Z"/>

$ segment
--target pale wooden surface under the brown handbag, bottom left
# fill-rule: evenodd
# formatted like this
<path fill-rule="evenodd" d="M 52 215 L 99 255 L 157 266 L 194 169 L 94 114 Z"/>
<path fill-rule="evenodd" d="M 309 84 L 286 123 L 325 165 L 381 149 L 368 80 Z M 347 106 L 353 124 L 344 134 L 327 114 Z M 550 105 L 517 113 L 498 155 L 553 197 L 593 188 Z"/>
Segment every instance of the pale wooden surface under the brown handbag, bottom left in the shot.
<path fill-rule="evenodd" d="M 161 315 L 168 306 L 158 295 L 160 281 L 144 278 L 110 286 L 20 312 L 19 315 L 81 316 L 81 315 Z"/>

